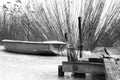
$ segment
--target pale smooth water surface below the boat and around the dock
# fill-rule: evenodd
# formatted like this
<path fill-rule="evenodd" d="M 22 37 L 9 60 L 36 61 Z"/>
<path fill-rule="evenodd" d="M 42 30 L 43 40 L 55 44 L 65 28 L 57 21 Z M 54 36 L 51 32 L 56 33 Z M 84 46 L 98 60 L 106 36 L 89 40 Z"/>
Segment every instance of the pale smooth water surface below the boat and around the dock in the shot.
<path fill-rule="evenodd" d="M 103 80 L 89 74 L 83 79 L 71 77 L 70 73 L 58 77 L 58 65 L 62 61 L 67 58 L 10 53 L 0 46 L 0 80 Z"/>

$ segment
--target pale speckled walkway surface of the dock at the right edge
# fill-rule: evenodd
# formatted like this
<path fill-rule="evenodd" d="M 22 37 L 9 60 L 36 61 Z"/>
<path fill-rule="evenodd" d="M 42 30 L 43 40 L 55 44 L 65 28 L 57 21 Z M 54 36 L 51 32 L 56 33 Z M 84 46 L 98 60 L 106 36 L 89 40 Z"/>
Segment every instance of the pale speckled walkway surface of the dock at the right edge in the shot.
<path fill-rule="evenodd" d="M 120 61 L 113 58 L 104 58 L 106 80 L 120 80 Z"/>

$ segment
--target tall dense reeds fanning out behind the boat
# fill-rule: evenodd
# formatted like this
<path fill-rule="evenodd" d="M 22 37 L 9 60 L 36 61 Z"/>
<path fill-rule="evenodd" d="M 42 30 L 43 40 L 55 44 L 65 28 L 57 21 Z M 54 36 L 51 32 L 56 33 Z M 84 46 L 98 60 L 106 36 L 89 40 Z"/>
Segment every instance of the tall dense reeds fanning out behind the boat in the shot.
<path fill-rule="evenodd" d="M 84 50 L 120 41 L 120 0 L 29 0 L 7 2 L 0 14 L 0 40 L 58 40 L 79 46 L 82 18 Z"/>

